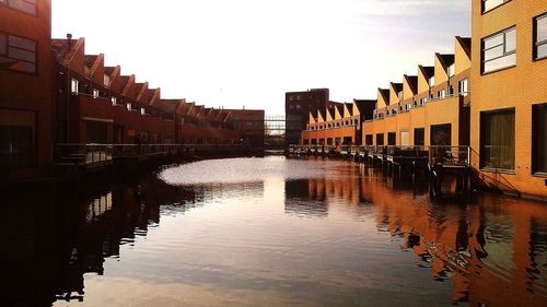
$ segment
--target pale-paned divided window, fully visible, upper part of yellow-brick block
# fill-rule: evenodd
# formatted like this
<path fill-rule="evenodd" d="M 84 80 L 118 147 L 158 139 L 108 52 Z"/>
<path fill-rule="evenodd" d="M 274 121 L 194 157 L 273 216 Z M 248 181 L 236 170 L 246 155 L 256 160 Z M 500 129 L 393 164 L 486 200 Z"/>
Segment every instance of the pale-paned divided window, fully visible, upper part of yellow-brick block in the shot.
<path fill-rule="evenodd" d="M 515 27 L 482 38 L 482 73 L 501 70 L 515 64 Z"/>

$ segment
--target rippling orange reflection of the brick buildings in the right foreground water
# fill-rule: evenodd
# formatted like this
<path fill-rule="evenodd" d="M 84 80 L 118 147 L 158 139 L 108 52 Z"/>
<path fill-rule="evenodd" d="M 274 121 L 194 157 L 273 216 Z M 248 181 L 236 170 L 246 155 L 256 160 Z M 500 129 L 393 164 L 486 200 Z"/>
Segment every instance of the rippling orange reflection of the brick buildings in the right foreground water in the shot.
<path fill-rule="evenodd" d="M 477 203 L 438 205 L 394 193 L 374 178 L 362 192 L 374 203 L 379 229 L 404 239 L 434 280 L 452 280 L 451 298 L 469 306 L 545 306 L 547 272 L 538 260 L 547 248 L 547 210 L 539 203 L 500 204 L 489 194 Z M 420 205 L 408 205 L 420 202 Z M 543 234 L 543 235 L 542 235 Z M 532 249 L 536 251 L 533 252 Z"/>

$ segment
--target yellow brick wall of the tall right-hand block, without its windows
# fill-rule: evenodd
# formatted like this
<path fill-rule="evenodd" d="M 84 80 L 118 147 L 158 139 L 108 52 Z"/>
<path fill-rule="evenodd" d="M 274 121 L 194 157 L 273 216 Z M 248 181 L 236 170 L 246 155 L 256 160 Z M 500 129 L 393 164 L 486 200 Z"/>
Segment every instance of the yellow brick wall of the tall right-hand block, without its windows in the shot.
<path fill-rule="evenodd" d="M 547 197 L 545 178 L 532 175 L 532 105 L 547 102 L 547 60 L 533 61 L 533 17 L 547 12 L 547 1 L 513 0 L 481 14 L 473 1 L 472 135 L 473 166 L 479 168 L 480 111 L 515 109 L 514 174 L 481 172 L 490 184 L 505 190 Z M 516 26 L 516 67 L 481 75 L 481 38 Z"/>

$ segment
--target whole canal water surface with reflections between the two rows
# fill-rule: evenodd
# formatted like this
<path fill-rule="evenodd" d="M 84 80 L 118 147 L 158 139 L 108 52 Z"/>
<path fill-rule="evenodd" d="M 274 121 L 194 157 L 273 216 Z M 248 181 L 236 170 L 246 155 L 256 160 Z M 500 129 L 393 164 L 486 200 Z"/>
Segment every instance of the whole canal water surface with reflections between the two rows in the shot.
<path fill-rule="evenodd" d="M 4 196 L 2 306 L 547 306 L 547 205 L 362 165 L 203 161 Z"/>

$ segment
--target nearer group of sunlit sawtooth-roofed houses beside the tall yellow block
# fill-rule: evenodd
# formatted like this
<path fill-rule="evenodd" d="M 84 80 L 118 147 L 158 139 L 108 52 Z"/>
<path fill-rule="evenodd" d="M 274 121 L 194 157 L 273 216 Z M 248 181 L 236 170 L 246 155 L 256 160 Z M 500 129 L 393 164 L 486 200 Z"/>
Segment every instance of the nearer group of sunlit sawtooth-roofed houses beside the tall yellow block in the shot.
<path fill-rule="evenodd" d="M 469 144 L 470 39 L 455 38 L 452 55 L 379 88 L 373 117 L 363 122 L 365 145 L 461 146 Z"/>

